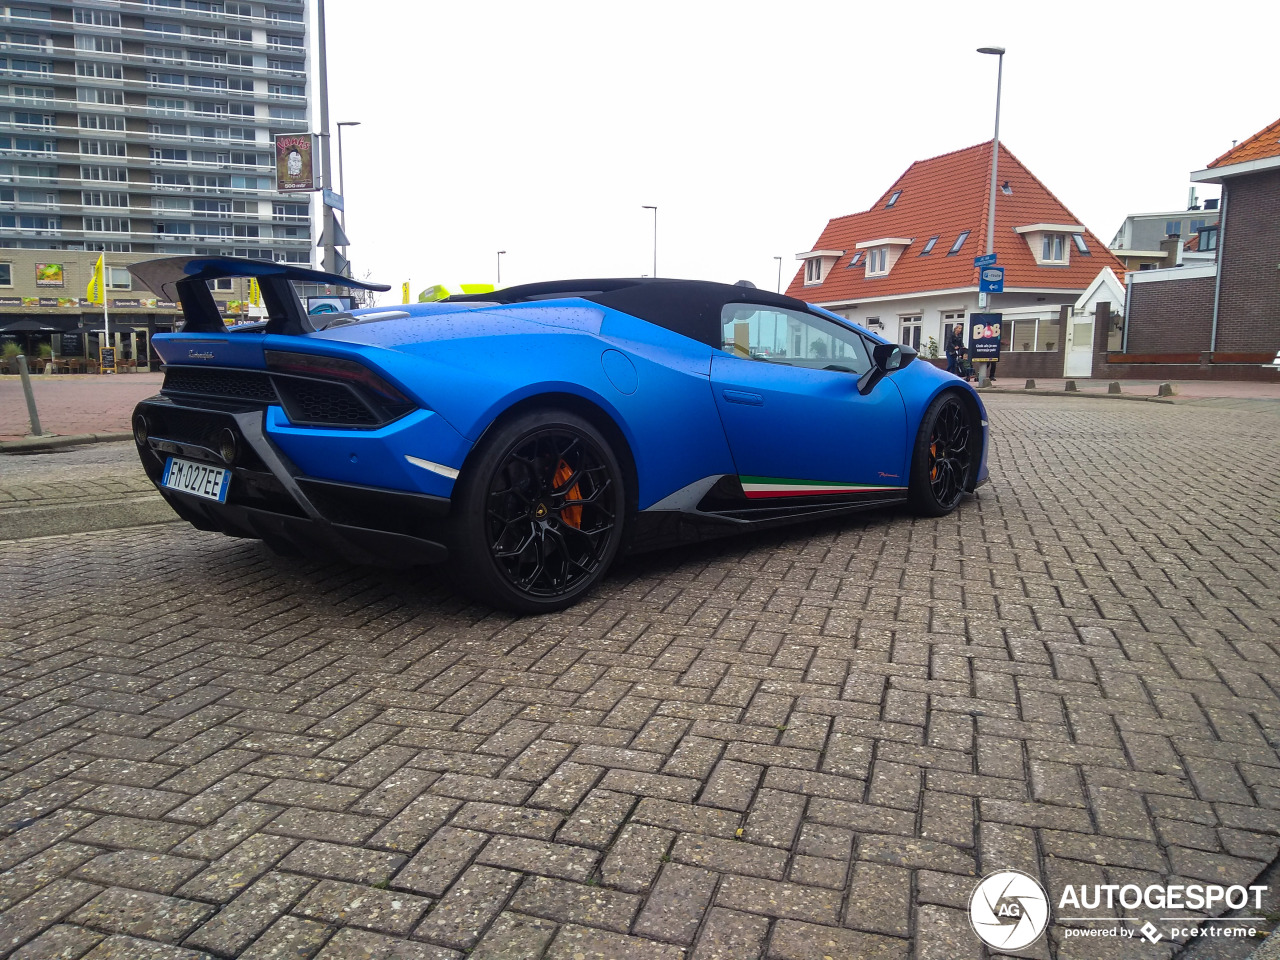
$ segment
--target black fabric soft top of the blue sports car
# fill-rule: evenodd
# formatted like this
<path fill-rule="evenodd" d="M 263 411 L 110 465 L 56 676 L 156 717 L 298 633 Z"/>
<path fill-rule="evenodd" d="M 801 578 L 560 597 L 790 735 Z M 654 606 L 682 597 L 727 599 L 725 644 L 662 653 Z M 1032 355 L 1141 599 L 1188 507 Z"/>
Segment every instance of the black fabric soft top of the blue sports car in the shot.
<path fill-rule="evenodd" d="M 449 297 L 449 302 L 529 303 L 539 300 L 581 297 L 600 306 L 631 314 L 658 326 L 705 343 L 722 344 L 721 311 L 726 303 L 760 303 L 783 310 L 810 312 L 795 297 L 742 284 L 710 280 L 667 280 L 652 276 L 598 280 L 548 280 L 507 287 L 493 293 Z"/>

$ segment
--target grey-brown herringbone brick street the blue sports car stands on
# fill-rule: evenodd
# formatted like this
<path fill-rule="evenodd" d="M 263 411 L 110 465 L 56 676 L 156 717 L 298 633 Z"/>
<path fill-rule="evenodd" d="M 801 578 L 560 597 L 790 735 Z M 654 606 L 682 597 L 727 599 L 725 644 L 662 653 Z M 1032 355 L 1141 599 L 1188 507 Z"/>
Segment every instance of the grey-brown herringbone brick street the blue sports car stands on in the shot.
<path fill-rule="evenodd" d="M 554 616 L 177 524 L 0 544 L 0 956 L 957 960 L 993 869 L 1251 882 L 1280 403 L 988 399 L 951 517 Z M 1176 950 L 1082 925 L 1018 955 Z"/>

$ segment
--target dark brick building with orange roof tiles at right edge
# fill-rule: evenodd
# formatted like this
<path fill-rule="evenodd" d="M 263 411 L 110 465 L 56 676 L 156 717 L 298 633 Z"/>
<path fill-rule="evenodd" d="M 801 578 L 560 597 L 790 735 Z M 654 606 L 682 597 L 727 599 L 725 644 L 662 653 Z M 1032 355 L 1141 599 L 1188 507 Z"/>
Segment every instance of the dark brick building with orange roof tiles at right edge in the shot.
<path fill-rule="evenodd" d="M 1280 120 L 1192 180 L 1222 187 L 1217 259 L 1129 274 L 1123 351 L 1108 370 L 1274 379 L 1262 365 L 1280 351 Z"/>

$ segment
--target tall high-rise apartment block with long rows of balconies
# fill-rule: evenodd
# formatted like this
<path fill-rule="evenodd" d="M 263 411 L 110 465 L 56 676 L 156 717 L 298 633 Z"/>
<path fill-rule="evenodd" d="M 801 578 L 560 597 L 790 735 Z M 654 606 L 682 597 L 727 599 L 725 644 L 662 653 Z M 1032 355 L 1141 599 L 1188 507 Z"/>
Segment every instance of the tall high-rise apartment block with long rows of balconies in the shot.
<path fill-rule="evenodd" d="M 5 4 L 0 247 L 311 261 L 306 0 Z"/>

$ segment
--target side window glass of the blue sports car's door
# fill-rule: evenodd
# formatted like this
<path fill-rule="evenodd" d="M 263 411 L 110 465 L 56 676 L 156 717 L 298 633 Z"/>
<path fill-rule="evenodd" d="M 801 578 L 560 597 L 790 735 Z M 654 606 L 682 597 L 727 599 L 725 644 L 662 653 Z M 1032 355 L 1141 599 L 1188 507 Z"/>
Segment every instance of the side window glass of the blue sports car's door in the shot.
<path fill-rule="evenodd" d="M 726 303 L 721 324 L 724 352 L 735 357 L 859 375 L 870 369 L 867 342 L 822 316 L 755 303 Z"/>

